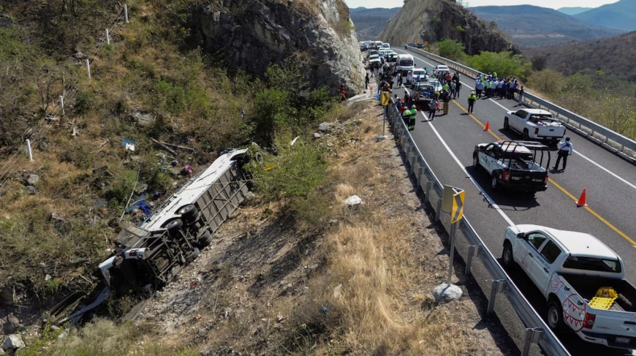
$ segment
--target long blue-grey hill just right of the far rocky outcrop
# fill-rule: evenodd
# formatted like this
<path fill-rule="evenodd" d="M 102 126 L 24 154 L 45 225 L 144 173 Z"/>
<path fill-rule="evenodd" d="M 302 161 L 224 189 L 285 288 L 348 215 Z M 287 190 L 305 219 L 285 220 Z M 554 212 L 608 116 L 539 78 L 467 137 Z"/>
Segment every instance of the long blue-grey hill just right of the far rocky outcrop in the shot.
<path fill-rule="evenodd" d="M 520 48 L 608 38 L 625 32 L 591 25 L 559 11 L 531 5 L 477 6 L 469 10 L 487 22 L 497 23 L 497 27 Z"/>

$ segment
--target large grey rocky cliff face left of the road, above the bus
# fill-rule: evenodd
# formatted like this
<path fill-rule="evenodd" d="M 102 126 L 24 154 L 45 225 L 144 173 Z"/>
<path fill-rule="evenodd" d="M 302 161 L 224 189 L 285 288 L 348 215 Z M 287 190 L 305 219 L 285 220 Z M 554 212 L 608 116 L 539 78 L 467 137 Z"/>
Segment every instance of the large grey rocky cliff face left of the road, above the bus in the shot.
<path fill-rule="evenodd" d="M 314 88 L 364 86 L 363 58 L 343 0 L 209 1 L 191 17 L 193 44 L 226 64 L 264 74 L 294 56 Z"/>

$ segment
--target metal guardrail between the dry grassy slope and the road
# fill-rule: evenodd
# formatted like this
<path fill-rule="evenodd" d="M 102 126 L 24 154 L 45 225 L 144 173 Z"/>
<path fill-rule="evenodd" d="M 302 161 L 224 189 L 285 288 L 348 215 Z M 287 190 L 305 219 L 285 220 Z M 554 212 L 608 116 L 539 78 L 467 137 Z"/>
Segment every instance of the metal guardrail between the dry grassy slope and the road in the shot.
<path fill-rule="evenodd" d="M 418 186 L 420 186 L 425 193 L 424 203 L 426 201 L 431 203 L 431 194 L 433 192 L 438 196 L 437 209 L 435 210 L 436 220 L 439 220 L 444 186 L 439 182 L 439 179 L 431 167 L 429 167 L 424 156 L 422 156 L 422 152 L 420 152 L 413 137 L 411 137 L 410 132 L 407 130 L 399 111 L 397 111 L 397 108 L 392 104 L 389 104 L 387 118 L 391 131 L 399 139 L 399 142 L 401 142 L 400 146 L 406 156 L 406 161 L 410 163 L 409 173 L 415 175 Z M 433 206 L 432 203 L 431 206 Z M 474 257 L 479 257 L 483 266 L 492 276 L 490 298 L 488 299 L 488 313 L 494 311 L 496 296 L 502 293 L 508 298 L 509 303 L 513 306 L 523 325 L 525 325 L 526 330 L 522 355 L 528 355 L 530 345 L 537 343 L 543 348 L 544 352 L 550 356 L 569 356 L 570 353 L 567 352 L 559 339 L 556 338 L 555 334 L 551 331 L 550 327 L 546 325 L 537 311 L 532 308 L 529 301 L 525 299 L 522 292 L 516 287 L 506 271 L 504 271 L 497 262 L 497 258 L 493 256 L 492 252 L 490 252 L 486 244 L 481 240 L 480 236 L 466 218 L 466 215 L 464 215 L 464 218 L 460 222 L 459 229 L 468 243 L 468 253 L 467 256 L 464 256 L 467 257 L 466 273 L 471 273 L 473 259 Z"/>

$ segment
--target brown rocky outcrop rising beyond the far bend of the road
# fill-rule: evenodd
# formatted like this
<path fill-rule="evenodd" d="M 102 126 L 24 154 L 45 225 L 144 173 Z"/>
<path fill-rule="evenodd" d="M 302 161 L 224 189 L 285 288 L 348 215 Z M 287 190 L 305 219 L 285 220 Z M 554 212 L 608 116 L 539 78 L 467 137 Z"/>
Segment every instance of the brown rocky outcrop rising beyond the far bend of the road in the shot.
<path fill-rule="evenodd" d="M 469 55 L 479 51 L 516 52 L 516 47 L 495 27 L 454 0 L 405 0 L 402 9 L 387 22 L 380 39 L 404 45 L 407 39 L 432 43 L 448 38 L 464 44 Z"/>

